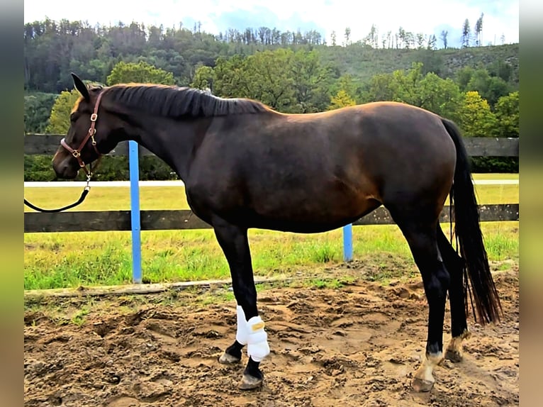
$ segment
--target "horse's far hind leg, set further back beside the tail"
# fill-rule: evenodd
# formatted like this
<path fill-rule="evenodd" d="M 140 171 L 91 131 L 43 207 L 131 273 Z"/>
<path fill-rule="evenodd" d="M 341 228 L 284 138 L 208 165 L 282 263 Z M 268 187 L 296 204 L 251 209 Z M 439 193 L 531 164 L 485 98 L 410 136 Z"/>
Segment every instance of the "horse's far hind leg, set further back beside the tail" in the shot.
<path fill-rule="evenodd" d="M 462 340 L 469 338 L 466 308 L 464 306 L 464 273 L 463 263 L 449 240 L 445 237 L 440 225 L 437 225 L 437 246 L 445 267 L 451 276 L 449 284 L 449 304 L 451 307 L 451 341 L 447 346 L 445 358 L 452 362 L 462 360 Z"/>

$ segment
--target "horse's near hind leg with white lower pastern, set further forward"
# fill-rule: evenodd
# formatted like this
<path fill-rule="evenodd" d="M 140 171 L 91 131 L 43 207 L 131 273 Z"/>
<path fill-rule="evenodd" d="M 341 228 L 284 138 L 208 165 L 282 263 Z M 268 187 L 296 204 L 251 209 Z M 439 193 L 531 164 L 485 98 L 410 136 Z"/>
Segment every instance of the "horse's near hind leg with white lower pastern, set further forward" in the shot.
<path fill-rule="evenodd" d="M 408 241 L 422 275 L 429 308 L 426 357 L 415 372 L 412 386 L 415 391 L 430 391 L 435 382 L 432 372 L 443 359 L 443 319 L 449 286 L 449 272 L 437 247 L 437 219 L 429 221 L 420 216 L 422 210 L 406 213 L 403 208 L 400 211 L 389 208 L 389 211 Z"/>

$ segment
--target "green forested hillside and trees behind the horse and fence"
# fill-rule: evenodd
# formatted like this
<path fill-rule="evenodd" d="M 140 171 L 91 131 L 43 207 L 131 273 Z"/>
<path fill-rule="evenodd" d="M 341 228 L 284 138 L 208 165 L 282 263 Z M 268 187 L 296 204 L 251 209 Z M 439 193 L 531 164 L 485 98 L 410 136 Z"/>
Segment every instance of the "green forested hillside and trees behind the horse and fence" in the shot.
<path fill-rule="evenodd" d="M 107 84 L 190 84 L 218 96 L 257 99 L 286 113 L 395 100 L 451 118 L 466 135 L 474 135 L 473 130 L 518 134 L 517 44 L 432 50 L 434 40 L 420 33 L 401 29 L 399 40 L 387 33 L 382 41 L 376 33 L 373 27 L 363 41 L 341 38 L 337 42 L 343 46 L 328 46 L 315 31 L 262 27 L 211 35 L 138 23 L 94 28 L 79 21 L 36 21 L 24 26 L 25 130 L 66 133 L 79 96 L 66 91 L 73 86 L 73 71 Z M 472 104 L 467 91 L 476 91 L 488 106 Z M 476 114 L 474 106 L 483 111 Z M 33 158 L 26 160 L 25 178 L 50 179 L 50 162 Z M 147 158 L 151 161 L 143 164 Z M 152 160 L 142 158 L 142 179 L 175 177 L 164 163 Z M 123 165 L 120 157 L 104 159 L 103 179 L 125 179 Z"/>

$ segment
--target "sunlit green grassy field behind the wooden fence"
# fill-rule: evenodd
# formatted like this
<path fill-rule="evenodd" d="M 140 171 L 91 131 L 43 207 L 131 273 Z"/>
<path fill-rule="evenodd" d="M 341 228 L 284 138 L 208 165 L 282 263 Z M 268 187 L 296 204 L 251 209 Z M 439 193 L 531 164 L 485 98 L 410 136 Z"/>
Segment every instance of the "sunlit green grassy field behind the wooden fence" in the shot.
<path fill-rule="evenodd" d="M 475 179 L 517 179 L 517 174 L 484 174 Z M 480 204 L 518 202 L 518 185 L 476 186 Z M 27 188 L 25 197 L 49 208 L 74 201 L 75 188 Z M 186 209 L 182 187 L 142 187 L 142 209 Z M 77 211 L 130 208 L 129 189 L 94 187 Z M 28 208 L 25 207 L 25 211 Z M 448 225 L 443 225 L 448 235 Z M 518 260 L 518 222 L 483 223 L 493 262 Z M 131 281 L 130 232 L 27 233 L 24 235 L 24 288 L 126 284 Z M 254 272 L 258 276 L 293 277 L 342 263 L 342 230 L 301 235 L 250 230 Z M 371 278 L 410 277 L 417 273 L 407 243 L 396 225 L 353 230 L 354 258 L 371 270 Z M 151 282 L 223 279 L 228 266 L 213 230 L 142 232 L 143 277 Z"/>

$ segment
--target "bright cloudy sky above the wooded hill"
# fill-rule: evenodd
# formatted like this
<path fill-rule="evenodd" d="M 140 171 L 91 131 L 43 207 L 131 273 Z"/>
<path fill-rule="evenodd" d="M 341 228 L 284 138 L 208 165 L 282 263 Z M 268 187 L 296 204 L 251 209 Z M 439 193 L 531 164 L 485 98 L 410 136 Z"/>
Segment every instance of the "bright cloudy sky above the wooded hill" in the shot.
<path fill-rule="evenodd" d="M 266 26 L 281 31 L 318 30 L 330 43 L 335 30 L 341 43 L 345 28 L 351 29 L 353 42 L 364 38 L 375 24 L 379 36 L 388 30 L 398 32 L 403 27 L 414 33 L 435 34 L 442 48 L 440 33 L 449 32 L 449 46 L 461 45 L 461 29 L 466 18 L 473 28 L 483 16 L 483 45 L 518 43 L 519 0 L 93 0 L 86 6 L 76 6 L 67 0 L 25 0 L 25 23 L 66 18 L 88 21 L 91 25 L 162 24 L 164 28 L 179 23 L 193 28 L 201 22 L 201 30 L 218 34 L 228 28 Z M 128 6 L 129 5 L 129 6 Z"/>

